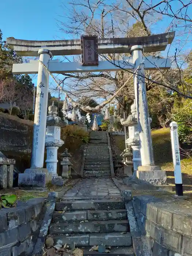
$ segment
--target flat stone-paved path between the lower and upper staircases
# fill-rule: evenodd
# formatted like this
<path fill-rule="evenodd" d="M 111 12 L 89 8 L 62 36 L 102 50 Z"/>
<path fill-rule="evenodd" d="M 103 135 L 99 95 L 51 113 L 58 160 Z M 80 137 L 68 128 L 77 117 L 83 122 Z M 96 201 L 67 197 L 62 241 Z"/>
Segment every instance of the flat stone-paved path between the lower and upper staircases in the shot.
<path fill-rule="evenodd" d="M 111 178 L 83 179 L 64 194 L 62 199 L 110 199 L 121 197 L 119 189 Z"/>

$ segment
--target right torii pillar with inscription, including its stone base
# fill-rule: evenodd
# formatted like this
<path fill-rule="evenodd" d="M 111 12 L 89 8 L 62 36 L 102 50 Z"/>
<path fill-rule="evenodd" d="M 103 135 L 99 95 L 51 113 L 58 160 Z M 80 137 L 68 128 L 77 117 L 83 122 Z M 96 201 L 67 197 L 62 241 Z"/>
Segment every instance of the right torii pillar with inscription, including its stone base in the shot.
<path fill-rule="evenodd" d="M 166 184 L 166 172 L 159 166 L 154 165 L 153 148 L 151 140 L 150 118 L 148 114 L 147 93 L 144 78 L 143 46 L 131 47 L 131 54 L 134 62 L 134 89 L 137 109 L 140 153 L 142 166 L 138 167 L 136 176 L 150 184 Z"/>

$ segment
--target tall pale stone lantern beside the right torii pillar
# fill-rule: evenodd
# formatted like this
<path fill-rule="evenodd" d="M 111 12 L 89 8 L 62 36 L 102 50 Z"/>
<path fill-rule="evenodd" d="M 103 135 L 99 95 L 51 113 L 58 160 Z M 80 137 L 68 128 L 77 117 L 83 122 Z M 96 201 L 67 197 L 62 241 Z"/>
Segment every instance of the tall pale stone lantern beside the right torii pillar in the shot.
<path fill-rule="evenodd" d="M 125 127 L 128 127 L 129 138 L 126 139 L 125 143 L 127 147 L 132 148 L 132 155 L 133 155 L 132 162 L 133 162 L 133 169 L 135 174 L 136 170 L 138 169 L 138 166 L 142 165 L 135 100 L 134 100 L 134 103 L 131 105 L 131 114 L 128 116 L 126 120 L 124 118 L 121 118 L 121 124 L 124 125 Z"/>

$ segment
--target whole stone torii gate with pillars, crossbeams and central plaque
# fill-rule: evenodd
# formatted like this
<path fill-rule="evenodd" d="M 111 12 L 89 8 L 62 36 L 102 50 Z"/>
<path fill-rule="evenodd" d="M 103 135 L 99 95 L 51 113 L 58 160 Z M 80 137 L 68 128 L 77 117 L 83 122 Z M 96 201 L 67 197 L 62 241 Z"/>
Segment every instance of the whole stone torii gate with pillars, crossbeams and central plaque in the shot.
<path fill-rule="evenodd" d="M 174 32 L 135 38 L 102 38 L 95 39 L 94 36 L 82 36 L 77 40 L 56 41 L 28 41 L 15 38 L 7 38 L 8 45 L 20 56 L 39 56 L 39 60 L 49 69 L 51 73 L 83 73 L 121 70 L 136 70 L 134 75 L 134 87 L 136 104 L 138 105 L 138 127 L 141 144 L 142 166 L 140 172 L 144 177 L 154 178 L 151 170 L 160 170 L 153 166 L 151 159 L 151 131 L 148 125 L 148 106 L 146 96 L 144 69 L 169 69 L 170 60 L 148 56 L 143 58 L 142 52 L 157 52 L 165 50 L 174 38 Z M 86 46 L 89 45 L 89 47 Z M 91 52 L 91 48 L 93 51 Z M 98 61 L 98 54 L 105 53 L 131 53 L 128 61 L 120 60 L 111 63 L 109 61 Z M 80 62 L 59 62 L 50 60 L 52 56 L 82 54 Z M 138 66 L 141 68 L 137 70 Z M 46 133 L 46 113 L 48 104 L 49 74 L 39 61 L 32 60 L 30 63 L 13 64 L 13 74 L 38 74 L 37 95 L 35 101 L 35 117 L 33 132 L 33 148 L 31 168 L 25 173 L 46 172 L 43 168 L 44 147 Z M 142 169 L 143 168 L 143 169 Z M 147 176 L 144 173 L 147 173 Z M 147 171 L 147 172 L 146 172 Z M 151 173 L 151 175 L 148 174 Z M 157 174 L 162 178 L 165 173 Z"/>

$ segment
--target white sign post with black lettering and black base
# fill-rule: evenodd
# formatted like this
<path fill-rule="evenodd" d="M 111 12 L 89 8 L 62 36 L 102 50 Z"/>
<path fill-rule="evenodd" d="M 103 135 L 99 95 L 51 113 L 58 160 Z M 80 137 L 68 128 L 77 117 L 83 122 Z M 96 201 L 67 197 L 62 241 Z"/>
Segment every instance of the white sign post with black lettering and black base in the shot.
<path fill-rule="evenodd" d="M 181 161 L 180 161 L 179 140 L 178 140 L 178 131 L 177 131 L 176 122 L 170 123 L 170 133 L 171 133 L 171 143 L 172 143 L 176 195 L 183 196 Z"/>

